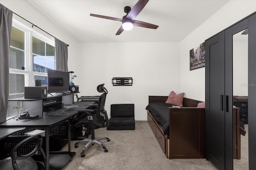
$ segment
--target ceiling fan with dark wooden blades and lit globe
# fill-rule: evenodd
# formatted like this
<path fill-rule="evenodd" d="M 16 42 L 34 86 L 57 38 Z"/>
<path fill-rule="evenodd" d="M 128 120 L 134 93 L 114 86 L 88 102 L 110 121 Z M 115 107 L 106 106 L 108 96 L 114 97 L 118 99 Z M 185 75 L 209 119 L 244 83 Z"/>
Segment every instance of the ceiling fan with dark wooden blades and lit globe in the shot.
<path fill-rule="evenodd" d="M 115 21 L 121 21 L 122 25 L 118 29 L 116 35 L 120 35 L 124 30 L 131 30 L 133 26 L 137 27 L 144 27 L 144 28 L 151 28 L 151 29 L 157 29 L 158 25 L 154 25 L 151 23 L 146 23 L 142 21 L 134 20 L 138 14 L 142 11 L 142 9 L 146 6 L 149 0 L 139 0 L 134 7 L 131 9 L 130 6 L 124 7 L 124 12 L 126 13 L 126 16 L 123 16 L 122 19 L 120 18 L 114 18 L 114 17 L 108 17 L 108 16 L 101 16 L 97 14 L 90 14 L 90 16 L 98 17 L 98 18 L 104 18 L 108 20 L 115 20 Z"/>

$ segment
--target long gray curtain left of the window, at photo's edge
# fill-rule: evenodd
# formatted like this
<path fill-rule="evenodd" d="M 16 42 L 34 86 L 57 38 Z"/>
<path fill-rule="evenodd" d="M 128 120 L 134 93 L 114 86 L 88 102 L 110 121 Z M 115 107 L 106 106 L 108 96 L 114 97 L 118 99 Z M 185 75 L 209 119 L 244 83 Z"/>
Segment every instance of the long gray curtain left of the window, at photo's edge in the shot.
<path fill-rule="evenodd" d="M 6 121 L 9 84 L 9 54 L 13 12 L 0 4 L 0 122 Z"/>

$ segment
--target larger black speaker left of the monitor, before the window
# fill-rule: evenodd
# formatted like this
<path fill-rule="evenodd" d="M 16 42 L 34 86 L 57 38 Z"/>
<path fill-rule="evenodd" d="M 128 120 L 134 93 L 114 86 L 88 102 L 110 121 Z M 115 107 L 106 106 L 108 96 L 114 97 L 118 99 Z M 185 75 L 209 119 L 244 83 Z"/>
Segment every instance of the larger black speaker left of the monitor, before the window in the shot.
<path fill-rule="evenodd" d="M 47 97 L 47 86 L 24 87 L 24 98 L 44 98 Z"/>

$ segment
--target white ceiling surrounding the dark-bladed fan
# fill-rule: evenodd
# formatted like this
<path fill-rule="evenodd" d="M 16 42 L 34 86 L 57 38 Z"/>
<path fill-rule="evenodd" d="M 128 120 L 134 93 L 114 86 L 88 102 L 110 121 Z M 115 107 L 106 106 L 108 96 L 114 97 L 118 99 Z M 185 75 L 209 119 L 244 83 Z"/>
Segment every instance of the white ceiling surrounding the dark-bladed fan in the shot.
<path fill-rule="evenodd" d="M 180 42 L 229 0 L 149 0 L 135 20 L 159 25 L 134 27 L 116 35 L 120 21 L 90 16 L 122 18 L 124 6 L 138 0 L 28 0 L 38 11 L 62 27 L 77 42 Z"/>

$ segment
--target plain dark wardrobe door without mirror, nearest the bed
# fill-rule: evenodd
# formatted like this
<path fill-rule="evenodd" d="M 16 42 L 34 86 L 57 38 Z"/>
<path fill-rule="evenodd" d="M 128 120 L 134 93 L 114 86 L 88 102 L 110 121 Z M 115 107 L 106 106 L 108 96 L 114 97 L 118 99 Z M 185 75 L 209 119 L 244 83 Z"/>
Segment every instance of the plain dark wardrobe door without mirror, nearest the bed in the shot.
<path fill-rule="evenodd" d="M 225 169 L 225 51 L 224 31 L 206 40 L 205 156 Z"/>

